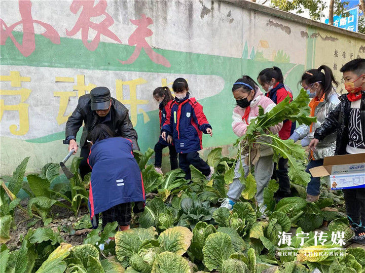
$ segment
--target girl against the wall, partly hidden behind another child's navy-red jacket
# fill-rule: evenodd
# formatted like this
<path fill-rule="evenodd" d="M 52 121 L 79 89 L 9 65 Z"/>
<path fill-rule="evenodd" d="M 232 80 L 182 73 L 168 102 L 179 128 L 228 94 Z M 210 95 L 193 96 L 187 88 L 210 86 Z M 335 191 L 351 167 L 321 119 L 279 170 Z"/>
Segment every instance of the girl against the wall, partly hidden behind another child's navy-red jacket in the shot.
<path fill-rule="evenodd" d="M 170 109 L 170 104 L 173 101 L 170 89 L 165 87 L 158 87 L 153 92 L 154 99 L 159 103 L 160 109 L 160 130 L 166 122 L 166 110 Z M 171 170 L 177 169 L 177 152 L 172 143 L 172 136 L 168 135 L 167 139 L 164 140 L 161 136 L 159 141 L 155 145 L 155 169 L 158 173 L 162 174 L 162 150 L 169 147 L 170 151 L 170 167 Z"/>

